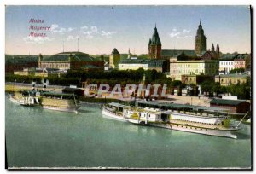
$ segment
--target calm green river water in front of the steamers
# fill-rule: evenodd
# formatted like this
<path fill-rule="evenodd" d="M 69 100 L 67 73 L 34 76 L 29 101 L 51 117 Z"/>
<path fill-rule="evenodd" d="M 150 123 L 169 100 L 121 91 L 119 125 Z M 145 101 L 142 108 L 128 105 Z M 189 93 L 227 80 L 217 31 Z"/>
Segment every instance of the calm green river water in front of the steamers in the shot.
<path fill-rule="evenodd" d="M 76 114 L 5 101 L 9 167 L 248 168 L 251 130 L 241 126 L 230 139 L 105 119 L 92 104 Z"/>

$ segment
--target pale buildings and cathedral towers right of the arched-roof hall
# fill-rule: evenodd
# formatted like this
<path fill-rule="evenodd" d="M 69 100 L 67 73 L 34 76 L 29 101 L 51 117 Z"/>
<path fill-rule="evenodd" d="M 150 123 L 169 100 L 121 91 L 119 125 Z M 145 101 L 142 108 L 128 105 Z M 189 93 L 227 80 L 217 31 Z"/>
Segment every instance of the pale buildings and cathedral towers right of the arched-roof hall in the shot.
<path fill-rule="evenodd" d="M 222 54 L 219 44 L 216 45 L 216 49 L 212 44 L 211 49 L 207 50 L 206 40 L 207 37 L 200 22 L 195 35 L 194 50 L 161 49 L 160 36 L 155 26 L 153 36 L 148 42 L 148 59 L 131 57 L 129 51 L 127 59 L 120 60 L 119 51 L 113 49 L 112 54 L 109 56 L 109 67 L 119 68 L 119 70 L 155 69 L 166 73 L 166 76 L 172 78 L 172 80 L 183 80 L 189 76 L 195 78 L 196 76 L 214 77 L 215 75 L 221 75 L 222 78 L 225 78 L 224 81 L 229 82 L 230 78 L 236 77 L 234 75 L 228 76 L 232 69 L 246 69 L 248 67 L 246 60 L 250 59 L 251 55 Z M 247 75 L 237 77 L 242 79 L 236 81 L 243 82 Z M 231 82 L 233 81 L 231 80 Z M 224 85 L 226 84 L 228 83 L 224 83 Z"/>

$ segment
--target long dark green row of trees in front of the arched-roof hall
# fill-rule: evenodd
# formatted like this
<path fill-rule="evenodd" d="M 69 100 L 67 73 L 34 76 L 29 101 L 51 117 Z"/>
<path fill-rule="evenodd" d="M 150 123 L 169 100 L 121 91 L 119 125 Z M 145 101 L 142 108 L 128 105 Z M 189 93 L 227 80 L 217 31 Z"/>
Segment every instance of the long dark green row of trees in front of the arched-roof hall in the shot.
<path fill-rule="evenodd" d="M 82 82 L 88 81 L 94 84 L 109 84 L 110 86 L 115 84 L 139 84 L 143 81 L 143 76 L 145 75 L 145 84 L 148 83 L 159 83 L 159 84 L 172 84 L 171 78 L 166 78 L 164 73 L 157 72 L 156 70 L 144 71 L 143 68 L 138 70 L 113 70 L 110 72 L 84 72 L 78 70 L 69 70 L 66 74 L 61 75 L 61 77 L 48 77 L 49 84 L 52 85 L 77 85 L 81 87 Z M 32 83 L 32 81 L 37 82 L 37 84 L 42 84 L 43 78 L 35 76 L 20 76 L 14 74 L 6 74 L 6 82 L 16 82 L 18 83 Z"/>

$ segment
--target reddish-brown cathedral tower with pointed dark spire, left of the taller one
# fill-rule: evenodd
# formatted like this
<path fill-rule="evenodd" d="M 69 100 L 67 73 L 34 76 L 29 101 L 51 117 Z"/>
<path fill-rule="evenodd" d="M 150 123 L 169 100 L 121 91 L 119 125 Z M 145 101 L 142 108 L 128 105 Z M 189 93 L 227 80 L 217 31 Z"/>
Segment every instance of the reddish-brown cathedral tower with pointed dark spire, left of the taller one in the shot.
<path fill-rule="evenodd" d="M 160 59 L 162 51 L 162 44 L 157 32 L 156 25 L 154 27 L 154 33 L 148 43 L 148 56 L 150 59 Z"/>

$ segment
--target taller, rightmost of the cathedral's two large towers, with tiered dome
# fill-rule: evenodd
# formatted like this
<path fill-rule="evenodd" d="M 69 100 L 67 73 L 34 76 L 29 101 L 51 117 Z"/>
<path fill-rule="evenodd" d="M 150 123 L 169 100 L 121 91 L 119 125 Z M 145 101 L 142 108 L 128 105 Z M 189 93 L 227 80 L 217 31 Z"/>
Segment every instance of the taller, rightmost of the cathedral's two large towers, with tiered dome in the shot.
<path fill-rule="evenodd" d="M 195 53 L 197 55 L 201 54 L 202 51 L 205 51 L 207 48 L 207 38 L 204 34 L 204 30 L 201 26 L 201 21 L 198 26 L 196 36 L 195 36 Z"/>

